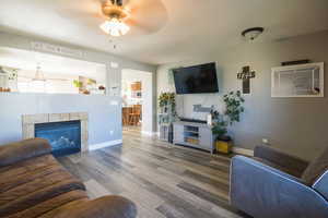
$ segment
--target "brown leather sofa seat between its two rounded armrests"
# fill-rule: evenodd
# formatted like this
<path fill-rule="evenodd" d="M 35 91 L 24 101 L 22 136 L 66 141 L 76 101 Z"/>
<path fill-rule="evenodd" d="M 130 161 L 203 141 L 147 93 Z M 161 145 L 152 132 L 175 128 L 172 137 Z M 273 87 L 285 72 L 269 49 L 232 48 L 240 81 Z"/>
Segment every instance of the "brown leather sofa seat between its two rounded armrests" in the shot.
<path fill-rule="evenodd" d="M 35 207 L 65 193 L 85 190 L 51 155 L 0 168 L 0 217 Z M 58 205 L 52 204 L 54 208 Z"/>

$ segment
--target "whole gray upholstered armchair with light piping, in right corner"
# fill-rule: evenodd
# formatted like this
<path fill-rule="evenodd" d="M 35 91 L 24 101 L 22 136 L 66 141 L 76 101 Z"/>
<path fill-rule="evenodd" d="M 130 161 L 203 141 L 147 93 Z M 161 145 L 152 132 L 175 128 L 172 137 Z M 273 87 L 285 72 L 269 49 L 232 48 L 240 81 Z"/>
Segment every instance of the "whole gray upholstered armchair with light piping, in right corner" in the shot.
<path fill-rule="evenodd" d="M 268 146 L 235 156 L 230 197 L 255 218 L 327 218 L 328 149 L 311 164 Z"/>

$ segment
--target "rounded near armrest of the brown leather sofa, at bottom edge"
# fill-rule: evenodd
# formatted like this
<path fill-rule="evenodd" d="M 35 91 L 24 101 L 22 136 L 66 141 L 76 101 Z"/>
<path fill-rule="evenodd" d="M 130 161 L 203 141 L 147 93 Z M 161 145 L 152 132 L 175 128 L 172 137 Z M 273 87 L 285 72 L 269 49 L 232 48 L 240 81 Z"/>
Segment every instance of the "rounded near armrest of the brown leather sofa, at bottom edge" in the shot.
<path fill-rule="evenodd" d="M 51 218 L 134 218 L 136 205 L 120 196 L 104 196 L 60 208 Z"/>

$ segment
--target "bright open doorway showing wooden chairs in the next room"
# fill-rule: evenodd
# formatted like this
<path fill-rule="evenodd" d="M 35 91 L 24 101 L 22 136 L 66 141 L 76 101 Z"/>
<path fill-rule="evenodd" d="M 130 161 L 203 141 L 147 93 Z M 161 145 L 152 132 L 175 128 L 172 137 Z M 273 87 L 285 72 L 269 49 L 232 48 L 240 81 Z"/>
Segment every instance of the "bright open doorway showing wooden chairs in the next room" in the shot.
<path fill-rule="evenodd" d="M 152 73 L 124 69 L 121 75 L 122 125 L 125 131 L 153 132 Z"/>

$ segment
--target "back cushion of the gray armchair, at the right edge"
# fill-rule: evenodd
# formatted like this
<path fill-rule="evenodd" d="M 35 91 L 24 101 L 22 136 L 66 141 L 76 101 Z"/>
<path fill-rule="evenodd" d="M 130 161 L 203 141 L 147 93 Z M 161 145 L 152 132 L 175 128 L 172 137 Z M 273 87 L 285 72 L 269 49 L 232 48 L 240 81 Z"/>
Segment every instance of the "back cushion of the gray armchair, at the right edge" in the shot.
<path fill-rule="evenodd" d="M 328 147 L 315 158 L 302 174 L 307 184 L 313 184 L 328 169 Z"/>

